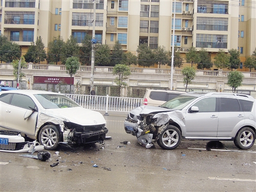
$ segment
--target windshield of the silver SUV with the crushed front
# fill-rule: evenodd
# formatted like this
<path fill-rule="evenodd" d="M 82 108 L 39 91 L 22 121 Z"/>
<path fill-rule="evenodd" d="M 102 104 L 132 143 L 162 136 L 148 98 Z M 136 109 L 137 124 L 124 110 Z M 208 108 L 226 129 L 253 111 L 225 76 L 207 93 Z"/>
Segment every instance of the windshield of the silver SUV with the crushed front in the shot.
<path fill-rule="evenodd" d="M 172 100 L 169 100 L 161 105 L 161 108 L 173 109 L 173 110 L 182 110 L 186 105 L 191 101 L 196 99 L 193 96 L 179 95 Z"/>

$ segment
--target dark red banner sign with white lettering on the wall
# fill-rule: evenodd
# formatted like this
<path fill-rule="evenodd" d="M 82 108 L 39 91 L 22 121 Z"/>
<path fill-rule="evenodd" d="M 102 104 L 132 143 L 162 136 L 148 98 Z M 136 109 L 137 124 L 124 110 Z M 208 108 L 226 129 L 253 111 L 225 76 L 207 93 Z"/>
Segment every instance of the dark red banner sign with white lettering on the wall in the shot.
<path fill-rule="evenodd" d="M 34 76 L 34 83 L 44 83 L 44 84 L 58 84 L 67 83 L 74 84 L 74 77 L 41 77 Z"/>

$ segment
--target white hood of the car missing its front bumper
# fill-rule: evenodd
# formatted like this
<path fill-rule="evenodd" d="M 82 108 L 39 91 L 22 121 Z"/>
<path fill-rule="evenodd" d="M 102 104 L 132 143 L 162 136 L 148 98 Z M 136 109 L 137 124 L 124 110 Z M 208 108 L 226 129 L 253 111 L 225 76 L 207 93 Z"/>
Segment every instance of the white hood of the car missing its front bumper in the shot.
<path fill-rule="evenodd" d="M 40 113 L 60 119 L 63 121 L 73 122 L 79 125 L 97 125 L 105 124 L 106 121 L 102 114 L 96 111 L 77 108 L 61 108 L 61 109 L 46 109 Z"/>

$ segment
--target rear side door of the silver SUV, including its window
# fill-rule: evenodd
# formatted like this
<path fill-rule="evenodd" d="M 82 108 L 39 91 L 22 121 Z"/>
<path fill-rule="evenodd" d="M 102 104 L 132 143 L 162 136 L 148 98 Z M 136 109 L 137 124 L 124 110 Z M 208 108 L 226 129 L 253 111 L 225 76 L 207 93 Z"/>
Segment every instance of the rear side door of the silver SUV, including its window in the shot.
<path fill-rule="evenodd" d="M 233 129 L 242 127 L 245 121 L 245 115 L 236 98 L 220 97 L 220 113 L 218 125 L 218 137 L 234 137 Z"/>

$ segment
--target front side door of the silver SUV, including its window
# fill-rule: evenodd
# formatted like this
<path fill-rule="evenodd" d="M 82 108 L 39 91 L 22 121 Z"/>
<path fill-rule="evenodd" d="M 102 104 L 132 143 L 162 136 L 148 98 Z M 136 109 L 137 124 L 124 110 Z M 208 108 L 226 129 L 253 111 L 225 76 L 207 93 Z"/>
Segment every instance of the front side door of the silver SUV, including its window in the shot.
<path fill-rule="evenodd" d="M 216 137 L 218 130 L 217 99 L 202 98 L 192 106 L 198 106 L 199 112 L 190 113 L 185 117 L 186 137 Z"/>

